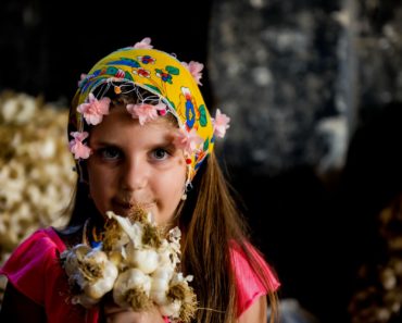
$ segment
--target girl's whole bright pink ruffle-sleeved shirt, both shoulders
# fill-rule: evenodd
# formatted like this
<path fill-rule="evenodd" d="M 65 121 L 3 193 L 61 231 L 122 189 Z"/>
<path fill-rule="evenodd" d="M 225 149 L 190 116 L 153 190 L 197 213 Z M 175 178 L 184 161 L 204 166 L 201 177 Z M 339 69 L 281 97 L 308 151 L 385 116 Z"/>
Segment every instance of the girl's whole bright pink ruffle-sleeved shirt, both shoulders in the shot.
<path fill-rule="evenodd" d="M 231 248 L 231 263 L 239 288 L 238 315 L 240 315 L 260 296 L 266 295 L 269 290 L 257 279 L 241 249 L 235 244 Z M 64 243 L 53 228 L 38 229 L 14 250 L 0 269 L 0 274 L 7 275 L 20 293 L 43 307 L 49 323 L 96 323 L 99 315 L 97 308 L 86 310 L 71 302 L 67 277 L 59 263 L 59 254 L 65 249 Z M 249 246 L 249 249 L 262 265 L 271 283 L 269 289 L 276 290 L 279 283 L 268 264 L 253 247 Z"/>

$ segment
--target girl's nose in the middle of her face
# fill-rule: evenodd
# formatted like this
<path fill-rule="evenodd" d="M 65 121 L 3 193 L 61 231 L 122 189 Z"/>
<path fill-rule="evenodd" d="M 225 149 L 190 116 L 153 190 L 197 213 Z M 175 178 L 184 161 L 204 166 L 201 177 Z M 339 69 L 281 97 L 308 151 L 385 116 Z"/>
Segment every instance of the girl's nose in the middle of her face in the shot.
<path fill-rule="evenodd" d="M 147 161 L 139 157 L 128 158 L 123 165 L 121 182 L 125 190 L 139 190 L 147 187 L 149 166 Z"/>

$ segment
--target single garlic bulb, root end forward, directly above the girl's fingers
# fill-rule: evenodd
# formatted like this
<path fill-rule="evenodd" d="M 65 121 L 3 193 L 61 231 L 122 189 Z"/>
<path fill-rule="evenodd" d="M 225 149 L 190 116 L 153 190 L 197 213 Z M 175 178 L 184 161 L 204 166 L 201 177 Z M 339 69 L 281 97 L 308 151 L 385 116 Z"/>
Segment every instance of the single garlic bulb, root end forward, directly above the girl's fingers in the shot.
<path fill-rule="evenodd" d="M 151 277 L 139 269 L 128 269 L 118 275 L 113 287 L 113 299 L 122 308 L 143 311 L 152 306 L 150 290 Z"/>

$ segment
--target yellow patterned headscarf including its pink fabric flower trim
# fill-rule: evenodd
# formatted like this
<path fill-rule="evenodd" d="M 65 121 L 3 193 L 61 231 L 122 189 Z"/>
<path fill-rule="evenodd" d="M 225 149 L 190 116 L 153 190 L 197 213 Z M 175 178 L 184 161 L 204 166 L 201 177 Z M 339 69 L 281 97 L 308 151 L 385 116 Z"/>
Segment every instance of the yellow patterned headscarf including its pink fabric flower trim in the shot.
<path fill-rule="evenodd" d="M 154 105 L 148 102 L 127 104 L 127 111 L 133 117 L 139 119 L 140 124 L 167 111 L 176 116 L 183 133 L 176 141 L 186 148 L 189 184 L 202 161 L 213 150 L 215 136 L 225 135 L 229 121 L 219 111 L 215 119 L 211 117 L 198 86 L 201 85 L 202 69 L 201 63 L 180 62 L 174 55 L 153 49 L 150 38 L 101 59 L 88 74 L 81 75 L 77 91 L 78 107 L 73 107 L 70 112 L 68 132 L 75 136 L 71 144 L 75 158 L 89 156 L 81 147 L 83 140 L 78 140 L 84 138 L 78 135 L 84 133 L 84 123 L 96 125 L 109 113 L 109 98 L 102 97 L 102 90 L 95 97 L 95 90 L 113 86 L 115 94 L 121 94 L 127 86 L 142 88 L 155 95 L 160 102 Z"/>

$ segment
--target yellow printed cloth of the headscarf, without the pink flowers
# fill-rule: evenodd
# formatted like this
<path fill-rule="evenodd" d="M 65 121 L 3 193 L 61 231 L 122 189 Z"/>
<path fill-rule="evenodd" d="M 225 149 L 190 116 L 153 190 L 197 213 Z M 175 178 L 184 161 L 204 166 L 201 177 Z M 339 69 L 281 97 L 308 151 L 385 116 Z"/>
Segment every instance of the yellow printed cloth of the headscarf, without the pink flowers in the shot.
<path fill-rule="evenodd" d="M 202 64 L 199 65 L 202 69 Z M 214 120 L 211 119 L 198 87 L 199 77 L 197 73 L 191 74 L 189 64 L 166 52 L 152 49 L 149 42 L 145 45 L 142 40 L 139 46 L 137 44 L 116 50 L 95 64 L 79 82 L 78 107 L 88 102 L 90 94 L 96 88 L 105 85 L 114 86 L 116 94 L 121 90 L 118 85 L 123 83 L 143 88 L 158 96 L 167 105 L 168 112 L 176 116 L 181 131 L 190 136 L 197 134 L 202 139 L 198 149 L 186 160 L 189 183 L 201 162 L 212 151 L 215 140 Z M 87 134 L 81 136 L 84 122 L 83 113 L 79 113 L 76 107 L 72 107 L 68 131 L 72 136 L 73 132 L 80 134 L 80 137 L 74 135 L 76 141 L 71 141 L 72 151 L 74 150 L 72 146 L 79 140 L 78 144 L 83 144 L 83 139 L 87 137 Z M 80 139 L 77 141 L 78 137 Z"/>

